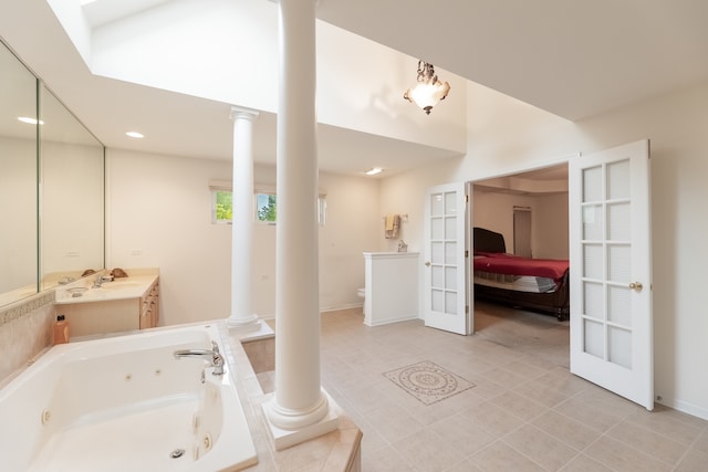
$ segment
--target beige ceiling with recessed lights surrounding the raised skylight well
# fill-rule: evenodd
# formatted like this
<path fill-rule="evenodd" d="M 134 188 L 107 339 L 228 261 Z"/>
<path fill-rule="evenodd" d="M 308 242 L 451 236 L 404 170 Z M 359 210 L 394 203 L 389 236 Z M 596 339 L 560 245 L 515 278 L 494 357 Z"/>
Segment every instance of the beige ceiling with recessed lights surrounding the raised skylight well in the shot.
<path fill-rule="evenodd" d="M 86 8 L 97 24 L 146 1 L 165 0 Z M 44 0 L 0 0 L 0 36 L 106 146 L 231 158 L 229 104 L 92 75 Z M 317 17 L 573 120 L 708 80 L 705 0 L 319 0 Z M 205 120 L 221 125 L 195 136 Z M 132 128 L 147 137 L 115 133 Z M 254 134 L 256 160 L 273 164 L 275 117 L 261 114 Z M 317 136 L 320 167 L 331 172 L 382 166 L 386 177 L 452 156 L 332 126 Z"/>

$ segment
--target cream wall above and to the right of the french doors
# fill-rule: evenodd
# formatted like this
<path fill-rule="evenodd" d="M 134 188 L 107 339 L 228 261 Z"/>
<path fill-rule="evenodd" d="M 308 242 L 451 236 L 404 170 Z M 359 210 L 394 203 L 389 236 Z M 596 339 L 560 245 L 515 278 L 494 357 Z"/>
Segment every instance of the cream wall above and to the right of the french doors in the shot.
<path fill-rule="evenodd" d="M 382 182 L 382 200 L 421 200 L 425 189 L 481 180 L 652 140 L 655 394 L 664 405 L 708 419 L 708 318 L 702 300 L 708 233 L 708 83 L 576 123 L 489 88 L 468 85 L 468 154 Z M 420 203 L 423 208 L 423 204 Z M 412 241 L 423 237 L 412 225 Z"/>

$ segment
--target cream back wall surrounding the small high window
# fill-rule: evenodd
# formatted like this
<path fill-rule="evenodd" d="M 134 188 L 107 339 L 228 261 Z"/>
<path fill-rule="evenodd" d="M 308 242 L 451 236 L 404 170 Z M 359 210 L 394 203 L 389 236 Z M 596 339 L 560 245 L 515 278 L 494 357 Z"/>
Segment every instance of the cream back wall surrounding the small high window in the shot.
<path fill-rule="evenodd" d="M 231 162 L 107 149 L 106 264 L 160 269 L 160 325 L 230 314 L 231 225 L 210 220 L 210 180 L 231 180 Z M 274 168 L 256 166 L 257 183 Z M 362 252 L 376 250 L 378 180 L 322 175 L 327 224 L 320 229 L 320 304 L 361 305 Z M 254 229 L 254 311 L 275 313 L 275 227 Z M 129 270 L 128 270 L 129 273 Z"/>

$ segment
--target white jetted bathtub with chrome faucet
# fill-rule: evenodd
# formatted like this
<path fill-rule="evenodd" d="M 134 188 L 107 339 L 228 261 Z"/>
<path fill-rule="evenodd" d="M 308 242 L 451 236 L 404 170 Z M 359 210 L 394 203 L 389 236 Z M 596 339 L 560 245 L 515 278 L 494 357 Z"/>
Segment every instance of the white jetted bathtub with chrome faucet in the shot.
<path fill-rule="evenodd" d="M 214 376 L 204 360 L 173 355 L 210 349 L 212 339 L 223 353 L 216 325 L 52 347 L 0 390 L 0 470 L 215 472 L 254 464 L 229 365 Z"/>

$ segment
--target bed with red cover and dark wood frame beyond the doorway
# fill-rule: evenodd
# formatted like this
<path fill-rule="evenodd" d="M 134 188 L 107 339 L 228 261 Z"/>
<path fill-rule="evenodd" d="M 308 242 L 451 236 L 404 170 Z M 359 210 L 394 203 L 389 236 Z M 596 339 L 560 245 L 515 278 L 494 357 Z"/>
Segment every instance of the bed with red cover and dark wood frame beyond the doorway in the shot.
<path fill-rule="evenodd" d="M 485 228 L 475 228 L 473 237 L 476 297 L 568 319 L 568 260 L 508 254 L 504 237 Z"/>

